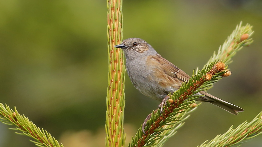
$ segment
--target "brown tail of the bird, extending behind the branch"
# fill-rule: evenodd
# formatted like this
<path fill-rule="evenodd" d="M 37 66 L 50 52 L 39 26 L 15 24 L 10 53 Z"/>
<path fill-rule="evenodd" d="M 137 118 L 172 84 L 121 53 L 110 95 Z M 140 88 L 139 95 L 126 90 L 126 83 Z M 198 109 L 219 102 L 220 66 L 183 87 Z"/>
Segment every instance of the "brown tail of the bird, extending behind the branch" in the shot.
<path fill-rule="evenodd" d="M 232 113 L 232 114 L 235 114 L 235 115 L 238 115 L 238 112 L 243 112 L 244 109 L 236 106 L 236 105 L 233 105 L 231 103 L 228 103 L 224 100 L 221 100 L 209 93 L 206 93 L 204 91 L 201 91 L 199 92 L 200 95 L 205 95 L 203 97 L 200 97 L 198 99 L 196 99 L 197 101 L 205 101 L 205 102 L 209 102 L 211 104 L 214 104 L 216 106 L 219 106 L 220 108 Z"/>

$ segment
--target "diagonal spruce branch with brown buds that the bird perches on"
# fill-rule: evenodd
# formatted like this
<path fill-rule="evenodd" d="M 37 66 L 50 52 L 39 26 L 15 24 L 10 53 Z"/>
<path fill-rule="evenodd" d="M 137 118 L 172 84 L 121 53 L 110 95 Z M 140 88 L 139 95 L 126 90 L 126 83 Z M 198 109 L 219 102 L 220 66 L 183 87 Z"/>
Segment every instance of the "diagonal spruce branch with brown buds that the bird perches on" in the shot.
<path fill-rule="evenodd" d="M 191 112 L 190 104 L 193 104 L 194 100 L 201 96 L 195 94 L 210 89 L 212 84 L 223 76 L 231 75 L 231 71 L 227 70 L 228 64 L 237 51 L 253 42 L 251 38 L 248 39 L 253 34 L 251 29 L 252 26 L 249 24 L 242 26 L 241 22 L 237 25 L 232 34 L 219 47 L 218 53 L 214 53 L 203 69 L 196 71 L 189 82 L 183 83 L 170 96 L 167 106 L 164 106 L 163 113 L 160 114 L 160 110 L 152 113 L 147 122 L 149 127 L 145 128 L 147 130 L 146 135 L 143 134 L 140 127 L 129 146 L 162 146 L 165 140 L 174 135 L 179 126 L 182 125 L 183 118 L 186 118 L 188 112 Z M 179 116 L 181 112 L 184 112 L 183 116 Z"/>

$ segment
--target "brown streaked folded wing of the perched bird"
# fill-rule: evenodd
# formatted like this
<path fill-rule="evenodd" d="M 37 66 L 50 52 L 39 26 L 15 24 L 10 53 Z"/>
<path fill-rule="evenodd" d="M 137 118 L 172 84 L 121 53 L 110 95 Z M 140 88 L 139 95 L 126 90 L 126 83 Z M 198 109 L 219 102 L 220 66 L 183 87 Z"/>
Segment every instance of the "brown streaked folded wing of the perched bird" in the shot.
<path fill-rule="evenodd" d="M 164 72 L 171 77 L 178 78 L 183 82 L 188 82 L 190 76 L 187 75 L 183 70 L 179 69 L 176 65 L 169 62 L 167 59 L 163 58 L 161 55 L 157 54 L 154 59 L 158 61 L 164 70 Z"/>

